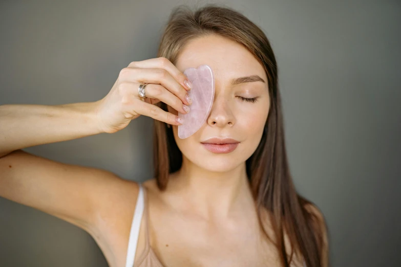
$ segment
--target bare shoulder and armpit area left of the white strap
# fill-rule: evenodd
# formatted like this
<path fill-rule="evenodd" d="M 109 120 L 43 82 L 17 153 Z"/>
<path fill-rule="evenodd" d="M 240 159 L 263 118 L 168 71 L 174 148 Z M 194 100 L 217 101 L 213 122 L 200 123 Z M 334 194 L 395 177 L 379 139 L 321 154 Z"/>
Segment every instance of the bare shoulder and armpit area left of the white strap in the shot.
<path fill-rule="evenodd" d="M 103 171 L 90 194 L 95 199 L 94 215 L 87 232 L 96 241 L 109 265 L 124 264 L 139 183 Z"/>

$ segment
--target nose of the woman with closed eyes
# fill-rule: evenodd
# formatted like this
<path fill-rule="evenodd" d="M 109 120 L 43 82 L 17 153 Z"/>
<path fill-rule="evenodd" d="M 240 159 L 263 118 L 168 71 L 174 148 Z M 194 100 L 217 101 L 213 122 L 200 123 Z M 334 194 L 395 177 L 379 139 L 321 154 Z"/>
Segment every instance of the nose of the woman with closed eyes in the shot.
<path fill-rule="evenodd" d="M 212 127 L 224 128 L 233 127 L 235 124 L 235 116 L 232 109 L 232 103 L 224 95 L 215 94 L 212 109 L 210 110 L 207 124 Z"/>

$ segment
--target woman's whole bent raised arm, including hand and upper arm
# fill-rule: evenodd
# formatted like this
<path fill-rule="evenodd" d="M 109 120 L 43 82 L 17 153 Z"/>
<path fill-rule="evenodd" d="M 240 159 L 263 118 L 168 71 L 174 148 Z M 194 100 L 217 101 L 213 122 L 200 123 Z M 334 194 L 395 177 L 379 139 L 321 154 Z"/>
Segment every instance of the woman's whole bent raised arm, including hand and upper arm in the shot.
<path fill-rule="evenodd" d="M 185 79 L 166 58 L 153 58 L 131 62 L 120 71 L 108 95 L 96 102 L 0 106 L 0 196 L 67 220 L 92 234 L 95 229 L 103 231 L 103 216 L 111 216 L 113 224 L 113 219 L 127 210 L 116 203 L 131 207 L 138 185 L 107 170 L 63 164 L 22 149 L 113 133 L 140 115 L 180 125 L 177 115 L 154 104 L 162 101 L 177 112 L 187 113 L 182 102 L 190 104 L 189 88 L 183 87 Z M 147 84 L 144 101 L 138 95 L 142 83 Z"/>

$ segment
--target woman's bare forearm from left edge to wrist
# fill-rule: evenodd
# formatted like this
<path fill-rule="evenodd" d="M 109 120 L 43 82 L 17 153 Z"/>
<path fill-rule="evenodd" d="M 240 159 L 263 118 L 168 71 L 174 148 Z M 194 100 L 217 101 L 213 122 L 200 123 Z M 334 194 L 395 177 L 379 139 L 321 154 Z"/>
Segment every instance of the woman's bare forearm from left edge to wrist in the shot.
<path fill-rule="evenodd" d="M 0 157 L 25 147 L 100 133 L 96 104 L 0 105 Z"/>

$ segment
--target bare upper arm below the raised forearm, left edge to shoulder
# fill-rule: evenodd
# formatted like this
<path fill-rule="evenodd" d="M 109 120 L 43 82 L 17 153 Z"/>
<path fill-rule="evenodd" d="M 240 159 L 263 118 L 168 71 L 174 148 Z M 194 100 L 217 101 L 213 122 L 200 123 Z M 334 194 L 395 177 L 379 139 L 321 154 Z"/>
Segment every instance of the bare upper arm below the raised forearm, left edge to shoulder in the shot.
<path fill-rule="evenodd" d="M 0 158 L 0 196 L 70 222 L 95 234 L 101 218 L 133 182 L 97 168 L 64 164 L 16 150 Z M 114 205 L 114 207 L 113 207 Z M 117 212 L 117 211 L 116 211 Z"/>

